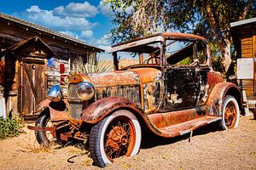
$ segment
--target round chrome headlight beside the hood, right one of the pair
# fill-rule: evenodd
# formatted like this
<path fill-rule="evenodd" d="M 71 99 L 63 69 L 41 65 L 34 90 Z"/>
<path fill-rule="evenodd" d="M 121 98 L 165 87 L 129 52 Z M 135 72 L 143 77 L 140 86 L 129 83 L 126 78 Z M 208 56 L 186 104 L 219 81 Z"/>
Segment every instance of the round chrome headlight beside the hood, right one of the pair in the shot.
<path fill-rule="evenodd" d="M 82 100 L 89 100 L 95 94 L 94 86 L 90 82 L 80 82 L 77 85 L 76 92 Z"/>

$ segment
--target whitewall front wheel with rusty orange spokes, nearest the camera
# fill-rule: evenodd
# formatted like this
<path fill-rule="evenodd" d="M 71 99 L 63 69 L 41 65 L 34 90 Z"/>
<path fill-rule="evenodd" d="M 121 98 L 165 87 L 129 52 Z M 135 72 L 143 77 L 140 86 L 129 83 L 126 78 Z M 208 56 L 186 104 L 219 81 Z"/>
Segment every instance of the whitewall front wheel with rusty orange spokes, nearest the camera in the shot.
<path fill-rule="evenodd" d="M 115 111 L 91 128 L 90 155 L 96 166 L 106 167 L 114 158 L 136 155 L 141 139 L 137 117 L 131 111 Z"/>

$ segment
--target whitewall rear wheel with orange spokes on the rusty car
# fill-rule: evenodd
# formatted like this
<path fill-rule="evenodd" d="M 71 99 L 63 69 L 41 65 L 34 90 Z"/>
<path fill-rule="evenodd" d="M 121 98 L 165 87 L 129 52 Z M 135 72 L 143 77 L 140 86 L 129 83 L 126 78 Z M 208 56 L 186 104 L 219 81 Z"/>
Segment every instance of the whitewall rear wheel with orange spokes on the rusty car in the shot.
<path fill-rule="evenodd" d="M 238 127 L 239 116 L 239 105 L 236 99 L 233 96 L 227 95 L 224 99 L 220 128 L 227 130 Z"/>

